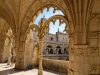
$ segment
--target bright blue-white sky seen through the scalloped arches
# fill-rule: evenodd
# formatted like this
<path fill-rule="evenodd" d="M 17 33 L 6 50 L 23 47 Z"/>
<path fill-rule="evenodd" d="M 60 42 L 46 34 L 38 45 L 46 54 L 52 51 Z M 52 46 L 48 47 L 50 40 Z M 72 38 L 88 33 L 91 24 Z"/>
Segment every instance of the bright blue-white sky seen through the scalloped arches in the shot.
<path fill-rule="evenodd" d="M 53 13 L 53 10 L 54 8 L 52 7 L 49 9 L 49 11 L 47 11 L 47 9 L 44 9 L 43 13 L 38 15 L 34 23 L 38 25 L 38 22 L 41 20 L 41 18 L 43 18 L 43 16 L 45 16 L 45 18 L 48 19 L 54 15 L 64 15 L 60 10 L 56 10 L 55 13 Z M 49 28 L 50 28 L 49 33 L 55 34 L 58 31 L 58 28 L 60 32 L 63 32 L 65 28 L 65 24 L 62 24 L 61 26 L 59 26 L 59 20 L 57 20 L 55 22 L 55 25 L 53 25 L 53 23 L 50 22 Z"/>

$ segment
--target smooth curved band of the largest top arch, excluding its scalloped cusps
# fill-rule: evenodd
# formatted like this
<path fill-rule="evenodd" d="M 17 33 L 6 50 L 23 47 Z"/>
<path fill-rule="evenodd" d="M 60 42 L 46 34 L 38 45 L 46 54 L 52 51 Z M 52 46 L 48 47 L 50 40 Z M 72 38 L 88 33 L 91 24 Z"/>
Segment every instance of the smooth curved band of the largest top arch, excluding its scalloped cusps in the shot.
<path fill-rule="evenodd" d="M 38 2 L 37 2 L 38 3 Z M 68 11 L 64 10 L 64 7 L 62 7 L 59 3 L 57 2 L 45 2 L 44 4 L 40 3 L 41 5 L 37 4 L 37 7 L 34 8 L 34 3 L 32 5 L 30 5 L 30 7 L 27 9 L 26 15 L 23 18 L 23 21 L 21 23 L 21 28 L 22 30 L 24 30 L 24 32 L 27 30 L 27 28 L 29 27 L 29 23 L 33 21 L 34 18 L 36 18 L 36 13 L 38 11 L 40 11 L 41 9 L 47 7 L 47 6 L 53 6 L 53 7 L 57 7 L 59 8 L 61 11 L 63 11 L 64 15 L 68 18 L 68 22 L 70 25 L 72 25 L 71 22 L 71 17 L 68 13 Z M 34 10 L 33 10 L 34 8 Z M 67 12 L 67 13 L 66 13 Z M 34 17 L 34 18 L 33 18 Z M 73 30 L 73 29 L 72 29 Z"/>

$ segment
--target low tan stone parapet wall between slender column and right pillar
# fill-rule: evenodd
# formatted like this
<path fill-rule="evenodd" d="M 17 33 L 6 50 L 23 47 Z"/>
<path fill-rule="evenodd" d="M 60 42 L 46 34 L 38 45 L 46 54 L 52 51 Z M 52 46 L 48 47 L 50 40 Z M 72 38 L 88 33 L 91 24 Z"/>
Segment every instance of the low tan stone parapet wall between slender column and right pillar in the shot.
<path fill-rule="evenodd" d="M 65 60 L 43 59 L 43 68 L 51 71 L 68 73 L 68 64 Z"/>

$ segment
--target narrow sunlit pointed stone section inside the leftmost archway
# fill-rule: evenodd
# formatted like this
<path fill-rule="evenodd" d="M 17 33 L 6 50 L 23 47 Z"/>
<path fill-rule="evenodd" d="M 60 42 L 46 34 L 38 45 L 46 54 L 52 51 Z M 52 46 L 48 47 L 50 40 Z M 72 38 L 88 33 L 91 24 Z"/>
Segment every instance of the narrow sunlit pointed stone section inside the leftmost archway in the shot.
<path fill-rule="evenodd" d="M 8 29 L 8 32 L 6 33 L 4 50 L 3 50 L 3 62 L 8 61 L 10 63 L 11 58 L 9 58 L 9 57 L 11 57 L 12 49 L 14 47 L 15 47 L 14 35 L 12 34 L 12 30 L 10 28 L 10 29 Z M 13 55 L 16 56 L 15 50 L 13 51 Z"/>

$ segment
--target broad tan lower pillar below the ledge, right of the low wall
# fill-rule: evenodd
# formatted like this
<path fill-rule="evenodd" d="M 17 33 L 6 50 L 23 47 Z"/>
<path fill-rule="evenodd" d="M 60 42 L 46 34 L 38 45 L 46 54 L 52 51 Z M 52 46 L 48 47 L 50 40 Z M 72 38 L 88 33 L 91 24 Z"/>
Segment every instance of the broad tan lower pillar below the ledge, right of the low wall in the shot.
<path fill-rule="evenodd" d="M 71 75 L 89 75 L 88 45 L 74 45 L 71 59 Z"/>

